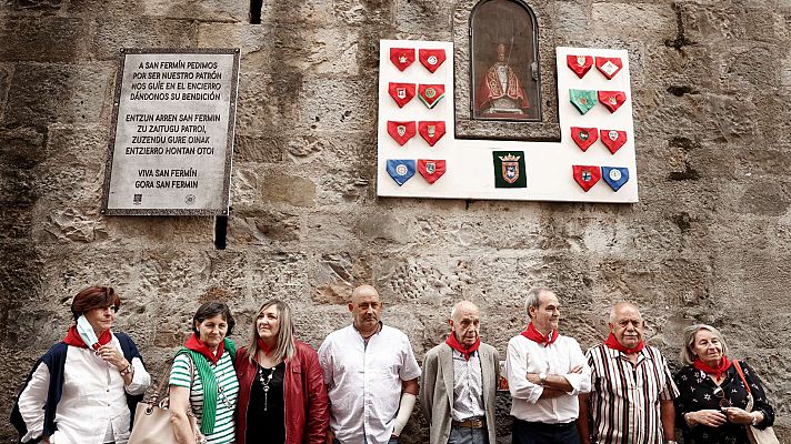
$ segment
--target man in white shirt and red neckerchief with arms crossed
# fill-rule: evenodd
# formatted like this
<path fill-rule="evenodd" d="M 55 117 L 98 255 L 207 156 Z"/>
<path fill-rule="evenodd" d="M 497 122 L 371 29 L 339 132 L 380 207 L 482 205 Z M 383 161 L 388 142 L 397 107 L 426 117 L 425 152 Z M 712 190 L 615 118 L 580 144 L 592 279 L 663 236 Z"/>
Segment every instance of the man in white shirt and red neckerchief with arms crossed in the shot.
<path fill-rule="evenodd" d="M 591 390 L 591 369 L 577 341 L 558 333 L 560 302 L 532 289 L 524 305 L 530 323 L 508 342 L 505 377 L 513 403 L 513 444 L 579 444 L 580 393 Z"/>

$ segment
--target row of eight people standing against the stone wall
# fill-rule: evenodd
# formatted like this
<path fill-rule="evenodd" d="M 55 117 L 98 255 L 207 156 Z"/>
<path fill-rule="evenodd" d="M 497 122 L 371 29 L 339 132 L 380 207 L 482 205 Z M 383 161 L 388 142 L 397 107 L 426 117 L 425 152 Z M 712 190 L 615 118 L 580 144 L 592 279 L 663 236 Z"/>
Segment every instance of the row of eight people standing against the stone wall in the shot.
<path fill-rule="evenodd" d="M 121 299 L 109 286 L 80 291 L 74 325 L 37 363 L 14 413 L 22 442 L 124 444 L 134 406 L 151 383 L 134 342 L 112 332 Z M 234 320 L 212 301 L 196 312 L 190 337 L 169 374 L 170 424 L 180 444 L 395 444 L 418 398 L 431 444 L 495 444 L 500 386 L 497 349 L 480 339 L 481 314 L 457 303 L 448 339 L 422 371 L 407 335 L 381 321 L 371 285 L 352 292 L 353 321 L 319 351 L 299 341 L 287 303 L 270 300 L 237 350 Z M 747 444 L 747 426 L 772 425 L 758 375 L 730 360 L 720 332 L 684 332 L 674 376 L 643 342 L 644 321 L 617 303 L 610 335 L 583 353 L 559 333 L 561 304 L 549 289 L 530 290 L 529 323 L 508 343 L 512 443 Z M 748 406 L 751 394 L 752 408 Z"/>

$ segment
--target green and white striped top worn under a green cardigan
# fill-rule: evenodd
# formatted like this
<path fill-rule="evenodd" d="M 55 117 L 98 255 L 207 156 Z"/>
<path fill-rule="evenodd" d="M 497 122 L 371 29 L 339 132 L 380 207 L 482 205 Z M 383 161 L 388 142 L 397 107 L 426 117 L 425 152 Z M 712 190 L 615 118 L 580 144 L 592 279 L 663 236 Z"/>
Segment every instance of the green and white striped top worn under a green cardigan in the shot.
<path fill-rule="evenodd" d="M 173 360 L 173 370 L 170 371 L 170 385 L 180 387 L 190 386 L 190 356 L 180 354 Z M 200 426 L 201 417 L 203 416 L 203 384 L 200 381 L 198 369 L 192 367 L 194 372 L 194 381 L 190 387 L 190 404 L 192 412 L 198 418 Z M 220 357 L 217 365 L 211 366 L 217 379 L 217 386 L 221 390 L 217 395 L 217 417 L 214 420 L 214 433 L 206 438 L 208 444 L 230 444 L 233 443 L 236 436 L 236 422 L 233 413 L 237 408 L 237 396 L 239 395 L 239 381 L 237 372 L 233 370 L 231 354 L 226 351 Z"/>

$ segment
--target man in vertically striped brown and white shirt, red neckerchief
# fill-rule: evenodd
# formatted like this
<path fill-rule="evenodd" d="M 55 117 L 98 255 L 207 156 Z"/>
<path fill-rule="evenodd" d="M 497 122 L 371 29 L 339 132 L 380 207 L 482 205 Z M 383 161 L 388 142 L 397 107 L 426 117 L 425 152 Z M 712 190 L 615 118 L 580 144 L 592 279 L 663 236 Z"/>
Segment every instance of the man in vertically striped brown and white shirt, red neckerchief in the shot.
<path fill-rule="evenodd" d="M 643 343 L 640 311 L 617 303 L 609 325 L 607 341 L 588 351 L 593 389 L 580 396 L 580 441 L 675 444 L 673 398 L 679 390 L 664 356 Z"/>

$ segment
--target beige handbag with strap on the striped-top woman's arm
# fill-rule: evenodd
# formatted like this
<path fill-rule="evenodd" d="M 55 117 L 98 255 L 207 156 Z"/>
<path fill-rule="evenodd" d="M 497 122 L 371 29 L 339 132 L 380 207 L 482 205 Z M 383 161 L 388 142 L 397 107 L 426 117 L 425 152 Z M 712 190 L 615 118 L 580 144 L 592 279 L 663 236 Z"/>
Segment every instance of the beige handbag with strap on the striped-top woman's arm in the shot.
<path fill-rule="evenodd" d="M 160 380 L 157 392 L 148 401 L 138 403 L 134 410 L 134 426 L 129 435 L 128 444 L 178 444 L 176 434 L 170 426 L 170 411 L 168 410 L 170 396 L 167 394 L 166 381 L 170 379 L 171 363 L 168 371 Z M 194 380 L 194 369 L 190 360 L 190 386 Z M 163 389 L 166 392 L 163 392 Z M 196 443 L 206 443 L 206 437 L 200 433 L 198 421 L 192 410 L 188 413 L 190 427 L 196 435 Z"/>

